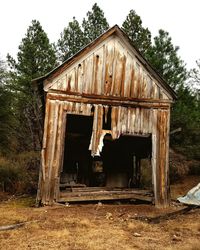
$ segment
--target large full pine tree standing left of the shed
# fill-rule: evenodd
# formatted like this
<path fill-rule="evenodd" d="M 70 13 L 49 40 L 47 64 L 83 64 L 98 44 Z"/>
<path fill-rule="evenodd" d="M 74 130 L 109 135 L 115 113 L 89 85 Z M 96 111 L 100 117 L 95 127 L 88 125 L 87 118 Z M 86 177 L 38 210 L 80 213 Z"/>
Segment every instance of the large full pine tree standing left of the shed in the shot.
<path fill-rule="evenodd" d="M 44 75 L 56 65 L 53 45 L 38 21 L 32 21 L 22 39 L 17 61 L 10 55 L 7 59 L 11 68 L 12 91 L 15 91 L 17 98 L 16 114 L 20 122 L 21 145 L 26 149 L 37 149 L 42 140 L 42 112 L 37 105 L 38 97 L 31 80 Z"/>

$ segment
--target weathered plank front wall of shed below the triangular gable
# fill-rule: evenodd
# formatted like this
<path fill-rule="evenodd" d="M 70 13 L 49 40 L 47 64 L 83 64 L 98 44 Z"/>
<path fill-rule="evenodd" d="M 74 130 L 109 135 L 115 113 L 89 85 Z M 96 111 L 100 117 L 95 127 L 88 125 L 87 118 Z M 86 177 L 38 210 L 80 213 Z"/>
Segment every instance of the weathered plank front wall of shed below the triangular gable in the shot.
<path fill-rule="evenodd" d="M 127 102 L 127 103 L 126 103 Z M 152 135 L 152 169 L 155 204 L 169 203 L 168 148 L 169 114 L 168 103 L 128 103 L 89 97 L 67 96 L 49 93 L 46 99 L 41 171 L 38 201 L 51 204 L 59 198 L 60 172 L 63 164 L 66 114 L 93 115 L 91 154 L 99 153 L 103 113 L 111 106 L 111 135 L 117 139 L 121 134 Z M 93 111 L 94 110 L 94 111 Z"/>

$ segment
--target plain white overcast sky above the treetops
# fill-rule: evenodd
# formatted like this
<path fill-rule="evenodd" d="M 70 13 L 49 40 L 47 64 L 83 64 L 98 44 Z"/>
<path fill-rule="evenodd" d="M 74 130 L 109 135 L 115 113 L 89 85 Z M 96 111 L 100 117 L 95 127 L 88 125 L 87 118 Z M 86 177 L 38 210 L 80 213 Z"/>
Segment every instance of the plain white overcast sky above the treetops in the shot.
<path fill-rule="evenodd" d="M 200 58 L 200 0 L 2 0 L 0 4 L 0 56 L 16 56 L 31 20 L 40 21 L 51 42 L 56 42 L 75 16 L 80 22 L 97 2 L 110 24 L 121 26 L 131 9 L 152 35 L 169 32 L 187 67 Z"/>

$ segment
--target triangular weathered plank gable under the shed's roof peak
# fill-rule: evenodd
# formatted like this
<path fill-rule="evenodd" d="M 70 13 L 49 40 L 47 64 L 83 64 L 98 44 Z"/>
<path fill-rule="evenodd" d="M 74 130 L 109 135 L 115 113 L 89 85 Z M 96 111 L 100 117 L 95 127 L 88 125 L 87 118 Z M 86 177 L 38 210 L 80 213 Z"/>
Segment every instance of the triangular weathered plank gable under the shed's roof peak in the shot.
<path fill-rule="evenodd" d="M 45 90 L 136 99 L 170 100 L 167 91 L 139 62 L 119 37 L 109 37 L 69 65 Z"/>

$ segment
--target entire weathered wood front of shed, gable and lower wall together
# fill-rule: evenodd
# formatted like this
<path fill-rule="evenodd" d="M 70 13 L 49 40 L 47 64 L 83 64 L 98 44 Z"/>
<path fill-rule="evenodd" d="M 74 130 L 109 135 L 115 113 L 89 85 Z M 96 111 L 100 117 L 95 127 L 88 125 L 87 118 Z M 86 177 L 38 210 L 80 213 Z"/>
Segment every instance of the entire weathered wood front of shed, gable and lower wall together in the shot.
<path fill-rule="evenodd" d="M 51 204 L 59 198 L 66 115 L 93 116 L 90 150 L 96 155 L 106 133 L 103 114 L 110 107 L 113 139 L 151 135 L 155 204 L 169 204 L 169 119 L 175 93 L 117 26 L 42 80 L 47 96 L 38 201 Z"/>

